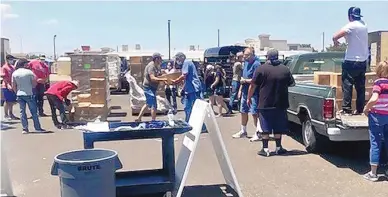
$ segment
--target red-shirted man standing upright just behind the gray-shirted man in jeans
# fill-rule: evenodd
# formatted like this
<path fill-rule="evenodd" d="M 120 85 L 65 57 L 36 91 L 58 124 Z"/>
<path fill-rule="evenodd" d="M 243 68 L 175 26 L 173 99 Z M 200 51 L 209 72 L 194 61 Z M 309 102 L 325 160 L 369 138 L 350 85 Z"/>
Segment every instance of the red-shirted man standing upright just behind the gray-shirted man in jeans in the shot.
<path fill-rule="evenodd" d="M 47 116 L 43 113 L 43 96 L 44 92 L 46 91 L 46 84 L 48 83 L 48 79 L 50 76 L 50 69 L 46 64 L 46 56 L 41 55 L 39 59 L 30 61 L 29 67 L 31 71 L 35 74 L 36 81 L 38 82 L 35 88 L 35 97 L 38 106 L 39 116 Z"/>

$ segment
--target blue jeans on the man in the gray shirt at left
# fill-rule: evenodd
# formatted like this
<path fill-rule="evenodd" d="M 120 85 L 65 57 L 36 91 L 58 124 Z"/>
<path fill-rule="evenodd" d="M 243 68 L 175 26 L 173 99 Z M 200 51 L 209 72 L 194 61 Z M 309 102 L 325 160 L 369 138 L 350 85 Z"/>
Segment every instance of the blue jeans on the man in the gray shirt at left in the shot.
<path fill-rule="evenodd" d="M 34 121 L 34 128 L 35 130 L 42 130 L 38 118 L 38 109 L 36 106 L 36 99 L 35 96 L 18 96 L 17 100 L 20 105 L 20 119 L 22 122 L 22 126 L 24 130 L 28 130 L 28 120 L 27 120 L 27 114 L 26 114 L 26 105 L 28 105 L 28 108 L 30 110 L 30 113 L 32 115 L 32 120 Z"/>

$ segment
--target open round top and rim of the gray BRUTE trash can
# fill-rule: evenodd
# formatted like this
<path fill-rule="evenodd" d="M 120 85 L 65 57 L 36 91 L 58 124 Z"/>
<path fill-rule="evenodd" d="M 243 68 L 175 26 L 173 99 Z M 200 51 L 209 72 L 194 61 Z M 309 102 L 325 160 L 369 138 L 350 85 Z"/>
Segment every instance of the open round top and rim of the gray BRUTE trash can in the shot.
<path fill-rule="evenodd" d="M 99 162 L 117 157 L 117 152 L 109 149 L 95 148 L 72 150 L 55 156 L 56 163 L 80 164 L 85 162 Z"/>

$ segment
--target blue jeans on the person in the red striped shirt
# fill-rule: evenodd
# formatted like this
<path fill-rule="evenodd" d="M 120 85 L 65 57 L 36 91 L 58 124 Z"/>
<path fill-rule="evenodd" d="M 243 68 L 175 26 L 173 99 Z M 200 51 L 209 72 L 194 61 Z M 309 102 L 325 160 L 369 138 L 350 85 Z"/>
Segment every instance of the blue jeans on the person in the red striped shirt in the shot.
<path fill-rule="evenodd" d="M 370 164 L 379 165 L 382 139 L 388 153 L 388 115 L 369 113 Z"/>

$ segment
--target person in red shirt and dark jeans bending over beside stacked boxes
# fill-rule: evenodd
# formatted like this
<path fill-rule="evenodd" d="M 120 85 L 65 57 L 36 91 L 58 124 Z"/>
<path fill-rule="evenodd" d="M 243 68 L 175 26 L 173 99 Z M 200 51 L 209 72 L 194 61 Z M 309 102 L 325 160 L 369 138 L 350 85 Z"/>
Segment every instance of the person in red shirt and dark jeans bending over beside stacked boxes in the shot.
<path fill-rule="evenodd" d="M 70 100 L 67 99 L 67 96 L 71 91 L 77 89 L 78 81 L 61 81 L 52 85 L 46 92 L 47 100 L 50 104 L 51 109 L 51 118 L 55 127 L 58 129 L 68 128 L 68 119 L 66 118 L 65 105 L 70 105 Z M 62 123 L 59 123 L 57 118 L 57 110 L 62 120 Z"/>

